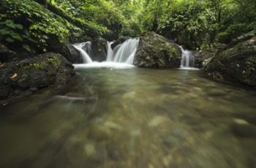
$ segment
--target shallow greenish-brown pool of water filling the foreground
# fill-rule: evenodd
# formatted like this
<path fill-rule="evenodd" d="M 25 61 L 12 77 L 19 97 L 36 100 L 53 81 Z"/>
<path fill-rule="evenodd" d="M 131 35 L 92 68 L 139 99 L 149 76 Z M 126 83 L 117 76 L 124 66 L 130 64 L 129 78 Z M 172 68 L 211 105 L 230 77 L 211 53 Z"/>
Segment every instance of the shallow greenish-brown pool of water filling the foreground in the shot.
<path fill-rule="evenodd" d="M 0 167 L 255 167 L 256 93 L 200 71 L 78 69 L 0 111 Z"/>

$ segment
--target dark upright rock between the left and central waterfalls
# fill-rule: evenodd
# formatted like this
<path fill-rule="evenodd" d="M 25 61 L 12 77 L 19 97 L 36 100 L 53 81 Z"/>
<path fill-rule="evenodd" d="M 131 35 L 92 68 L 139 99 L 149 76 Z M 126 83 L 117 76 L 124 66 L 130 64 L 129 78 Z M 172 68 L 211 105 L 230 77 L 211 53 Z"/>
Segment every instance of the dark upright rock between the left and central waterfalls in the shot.
<path fill-rule="evenodd" d="M 107 45 L 108 41 L 103 38 L 93 39 L 91 41 L 91 53 L 89 54 L 91 60 L 98 62 L 107 60 Z"/>

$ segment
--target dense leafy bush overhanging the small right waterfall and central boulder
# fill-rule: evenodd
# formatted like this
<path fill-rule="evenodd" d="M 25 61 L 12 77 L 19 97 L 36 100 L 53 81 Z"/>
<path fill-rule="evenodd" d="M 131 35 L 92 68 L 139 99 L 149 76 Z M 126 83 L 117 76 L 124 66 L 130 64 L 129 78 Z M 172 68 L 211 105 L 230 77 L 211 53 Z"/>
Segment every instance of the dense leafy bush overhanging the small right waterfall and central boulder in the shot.
<path fill-rule="evenodd" d="M 195 47 L 207 48 L 207 35 L 214 30 L 214 13 L 204 1 L 176 1 L 172 10 L 159 19 L 161 32 L 168 28 L 173 34 L 182 36 L 183 41 L 190 41 Z"/>

